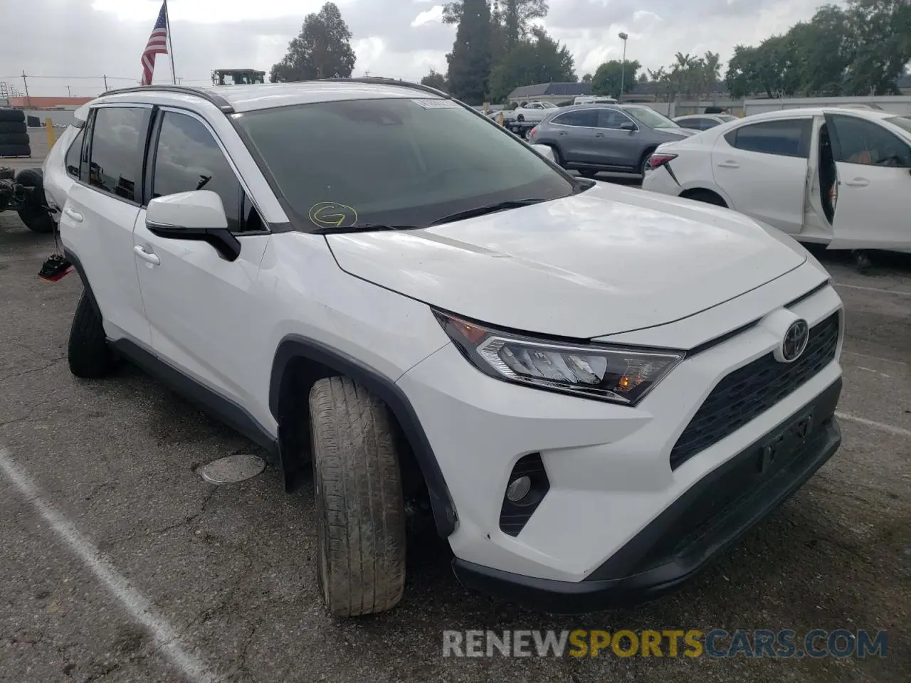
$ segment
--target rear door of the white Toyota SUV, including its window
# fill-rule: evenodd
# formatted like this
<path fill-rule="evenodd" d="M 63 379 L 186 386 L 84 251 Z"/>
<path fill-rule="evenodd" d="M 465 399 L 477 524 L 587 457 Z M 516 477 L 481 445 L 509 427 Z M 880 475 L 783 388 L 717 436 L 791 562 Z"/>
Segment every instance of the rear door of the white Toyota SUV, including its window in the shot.
<path fill-rule="evenodd" d="M 133 257 L 142 202 L 142 168 L 151 106 L 93 108 L 78 168 L 60 215 L 60 238 L 76 254 L 95 295 L 107 336 L 148 346 L 150 333 Z M 73 150 L 75 152 L 75 149 Z"/>

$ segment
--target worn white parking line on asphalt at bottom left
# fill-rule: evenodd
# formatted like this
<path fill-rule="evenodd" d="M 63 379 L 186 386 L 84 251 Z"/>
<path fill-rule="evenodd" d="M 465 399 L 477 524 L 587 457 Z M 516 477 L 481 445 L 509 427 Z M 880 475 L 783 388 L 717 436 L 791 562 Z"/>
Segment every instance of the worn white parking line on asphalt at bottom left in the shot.
<path fill-rule="evenodd" d="M 162 652 L 170 663 L 178 668 L 192 683 L 216 683 L 219 678 L 210 672 L 209 667 L 180 642 L 174 627 L 159 617 L 151 603 L 129 585 L 117 569 L 112 566 L 95 545 L 81 535 L 67 518 L 59 513 L 53 505 L 44 500 L 38 493 L 35 483 L 24 470 L 13 461 L 9 451 L 0 447 L 0 471 L 15 484 L 19 492 L 35 507 L 46 523 L 63 539 L 70 549 L 79 556 L 87 568 L 118 599 L 120 605 L 142 626 L 148 629 L 155 641 L 156 648 Z"/>

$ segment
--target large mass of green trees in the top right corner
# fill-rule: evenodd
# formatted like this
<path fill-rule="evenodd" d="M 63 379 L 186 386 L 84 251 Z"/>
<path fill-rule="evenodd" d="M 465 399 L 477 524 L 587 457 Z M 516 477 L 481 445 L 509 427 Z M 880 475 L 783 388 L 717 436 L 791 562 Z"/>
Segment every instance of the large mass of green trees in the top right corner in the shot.
<path fill-rule="evenodd" d="M 848 0 L 759 46 L 736 46 L 733 97 L 891 95 L 911 61 L 911 0 Z"/>

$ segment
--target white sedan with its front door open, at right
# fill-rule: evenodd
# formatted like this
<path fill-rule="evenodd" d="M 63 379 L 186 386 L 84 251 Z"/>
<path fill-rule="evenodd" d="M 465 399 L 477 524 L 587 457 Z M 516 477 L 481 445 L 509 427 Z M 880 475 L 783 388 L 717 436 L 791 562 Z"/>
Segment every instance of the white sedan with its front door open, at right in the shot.
<path fill-rule="evenodd" d="M 643 189 L 740 211 L 828 249 L 911 252 L 911 117 L 785 109 L 659 146 Z"/>

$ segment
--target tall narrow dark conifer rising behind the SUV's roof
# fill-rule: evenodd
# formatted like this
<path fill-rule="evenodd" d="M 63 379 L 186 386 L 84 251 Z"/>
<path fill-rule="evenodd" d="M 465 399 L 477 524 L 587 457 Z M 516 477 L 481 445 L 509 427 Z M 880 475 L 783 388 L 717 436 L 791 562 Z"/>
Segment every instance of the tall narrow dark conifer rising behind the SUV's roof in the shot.
<path fill-rule="evenodd" d="M 490 8 L 485 0 L 463 0 L 446 80 L 449 91 L 469 105 L 484 102 L 490 78 Z"/>

